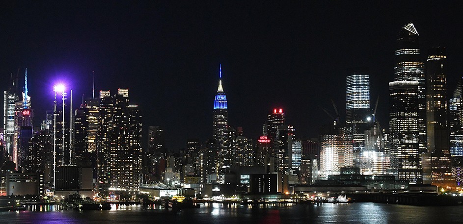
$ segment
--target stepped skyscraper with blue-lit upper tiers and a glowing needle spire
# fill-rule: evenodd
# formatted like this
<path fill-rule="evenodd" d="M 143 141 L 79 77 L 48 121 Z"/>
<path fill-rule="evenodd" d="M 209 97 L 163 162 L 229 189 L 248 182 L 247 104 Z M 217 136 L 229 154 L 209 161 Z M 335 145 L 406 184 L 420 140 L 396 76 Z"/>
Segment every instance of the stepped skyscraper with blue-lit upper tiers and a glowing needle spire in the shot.
<path fill-rule="evenodd" d="M 231 150 L 231 131 L 228 127 L 228 105 L 227 97 L 222 87 L 222 66 L 219 69 L 218 90 L 214 100 L 214 122 L 213 122 L 214 146 L 218 153 L 217 166 L 230 167 L 233 161 Z"/>

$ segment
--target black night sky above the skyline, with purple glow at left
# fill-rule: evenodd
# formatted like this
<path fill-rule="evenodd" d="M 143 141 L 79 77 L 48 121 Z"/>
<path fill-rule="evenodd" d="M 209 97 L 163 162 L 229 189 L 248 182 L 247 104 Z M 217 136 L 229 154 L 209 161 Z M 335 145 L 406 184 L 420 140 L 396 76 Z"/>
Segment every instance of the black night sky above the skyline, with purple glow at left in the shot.
<path fill-rule="evenodd" d="M 452 92 L 463 75 L 458 1 L 2 1 L 0 87 L 27 67 L 39 124 L 56 80 L 66 80 L 78 102 L 91 96 L 95 71 L 96 91 L 129 88 L 145 130 L 163 126 L 176 150 L 212 136 L 219 63 L 229 124 L 252 139 L 274 107 L 297 137 L 317 137 L 331 120 L 320 106 L 331 109 L 333 99 L 345 114 L 346 70 L 369 67 L 372 104 L 380 96 L 378 119 L 387 127 L 395 39 L 410 21 L 424 53 L 447 48 Z"/>

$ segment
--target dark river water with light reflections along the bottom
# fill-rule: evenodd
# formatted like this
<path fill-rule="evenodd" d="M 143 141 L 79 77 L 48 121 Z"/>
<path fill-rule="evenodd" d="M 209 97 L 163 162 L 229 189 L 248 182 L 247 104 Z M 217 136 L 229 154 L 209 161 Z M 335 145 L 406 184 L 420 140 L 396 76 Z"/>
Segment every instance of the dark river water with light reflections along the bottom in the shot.
<path fill-rule="evenodd" d="M 40 209 L 37 209 L 40 210 Z M 42 209 L 45 210 L 45 209 Z M 9 224 L 463 224 L 463 206 L 419 207 L 354 203 L 317 205 L 201 205 L 180 212 L 159 207 L 115 205 L 109 211 L 75 211 L 48 208 L 48 212 L 0 212 Z M 52 211 L 50 211 L 52 210 Z"/>

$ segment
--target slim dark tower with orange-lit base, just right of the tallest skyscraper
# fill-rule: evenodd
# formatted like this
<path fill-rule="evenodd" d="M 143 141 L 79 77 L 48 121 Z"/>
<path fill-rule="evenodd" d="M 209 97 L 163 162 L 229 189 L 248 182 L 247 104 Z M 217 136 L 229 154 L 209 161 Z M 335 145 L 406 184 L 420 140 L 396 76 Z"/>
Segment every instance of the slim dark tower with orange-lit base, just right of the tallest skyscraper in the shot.
<path fill-rule="evenodd" d="M 450 161 L 445 48 L 431 48 L 426 61 L 428 152 L 422 155 L 423 183 L 454 186 Z"/>

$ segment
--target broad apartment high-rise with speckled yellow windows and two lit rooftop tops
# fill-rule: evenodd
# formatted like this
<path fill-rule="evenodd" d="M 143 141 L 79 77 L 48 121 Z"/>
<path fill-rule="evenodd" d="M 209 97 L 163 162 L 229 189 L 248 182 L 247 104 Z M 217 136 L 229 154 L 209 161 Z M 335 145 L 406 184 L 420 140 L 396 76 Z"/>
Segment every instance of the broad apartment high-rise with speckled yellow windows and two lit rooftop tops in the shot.
<path fill-rule="evenodd" d="M 97 134 L 98 187 L 137 191 L 141 170 L 141 115 L 129 104 L 128 90 L 108 96 L 100 92 Z"/>

